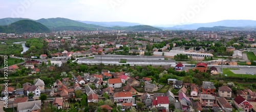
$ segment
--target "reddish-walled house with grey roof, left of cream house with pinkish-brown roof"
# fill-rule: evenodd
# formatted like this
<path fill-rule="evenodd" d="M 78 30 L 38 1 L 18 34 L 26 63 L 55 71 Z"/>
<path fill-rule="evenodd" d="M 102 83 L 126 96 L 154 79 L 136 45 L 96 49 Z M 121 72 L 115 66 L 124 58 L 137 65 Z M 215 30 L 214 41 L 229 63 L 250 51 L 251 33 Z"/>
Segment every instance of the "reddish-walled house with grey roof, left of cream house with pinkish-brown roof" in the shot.
<path fill-rule="evenodd" d="M 202 94 L 214 94 L 216 87 L 214 86 L 214 82 L 208 82 L 208 81 L 203 81 L 203 85 L 202 85 L 202 90 L 203 93 Z"/>

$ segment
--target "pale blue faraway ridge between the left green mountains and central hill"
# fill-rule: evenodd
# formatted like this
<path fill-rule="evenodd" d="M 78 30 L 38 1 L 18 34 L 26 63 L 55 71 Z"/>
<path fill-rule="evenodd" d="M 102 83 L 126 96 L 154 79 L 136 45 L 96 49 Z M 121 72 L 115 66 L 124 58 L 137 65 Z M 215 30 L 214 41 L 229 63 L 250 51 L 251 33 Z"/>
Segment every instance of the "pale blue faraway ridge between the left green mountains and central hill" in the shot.
<path fill-rule="evenodd" d="M 86 23 L 86 24 L 103 26 L 103 27 L 115 27 L 115 26 L 130 27 L 130 26 L 142 25 L 138 23 L 129 23 L 129 22 L 123 22 L 123 21 L 113 21 L 113 22 L 96 22 L 96 21 L 80 21 L 80 20 L 77 20 L 77 21 Z"/>

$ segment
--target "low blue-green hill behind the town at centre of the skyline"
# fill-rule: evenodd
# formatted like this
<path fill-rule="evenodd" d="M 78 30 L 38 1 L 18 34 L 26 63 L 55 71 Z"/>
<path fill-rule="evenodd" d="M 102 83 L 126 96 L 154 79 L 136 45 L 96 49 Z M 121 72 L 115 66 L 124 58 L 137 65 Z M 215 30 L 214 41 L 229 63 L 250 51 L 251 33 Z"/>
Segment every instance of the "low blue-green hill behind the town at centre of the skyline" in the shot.
<path fill-rule="evenodd" d="M 161 31 L 161 29 L 148 26 L 148 25 L 139 25 L 139 26 L 131 26 L 131 27 L 125 27 L 122 30 L 126 31 Z"/>

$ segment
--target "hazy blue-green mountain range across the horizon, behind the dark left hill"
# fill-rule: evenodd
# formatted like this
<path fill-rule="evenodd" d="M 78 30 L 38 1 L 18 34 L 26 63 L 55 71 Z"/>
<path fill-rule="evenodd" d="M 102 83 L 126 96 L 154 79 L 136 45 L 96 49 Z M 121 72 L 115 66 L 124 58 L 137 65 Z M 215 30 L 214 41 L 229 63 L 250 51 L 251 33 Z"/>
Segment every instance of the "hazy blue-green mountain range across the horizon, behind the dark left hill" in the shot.
<path fill-rule="evenodd" d="M 60 30 L 126 30 L 126 31 L 160 31 L 160 30 L 210 30 L 210 31 L 221 31 L 221 30 L 254 30 L 256 28 L 256 20 L 221 20 L 212 23 L 197 23 L 190 25 L 176 25 L 173 27 L 166 27 L 172 25 L 158 25 L 158 26 L 147 26 L 139 23 L 129 23 L 123 21 L 114 22 L 96 22 L 96 21 L 81 21 L 71 20 L 67 18 L 41 18 L 33 20 L 29 18 L 2 18 L 0 19 L 0 26 L 9 26 L 19 20 L 32 20 L 40 23 L 51 31 Z M 39 24 L 38 24 L 39 25 Z M 216 27 L 219 26 L 219 27 Z M 212 28 L 210 28 L 212 27 Z M 226 28 L 229 27 L 229 28 Z M 237 28 L 239 27 L 239 28 Z M 11 28 L 11 27 L 10 27 Z M 25 28 L 25 27 L 24 27 Z M 11 31 L 10 29 L 8 31 Z M 44 30 L 41 30 L 44 31 Z"/>

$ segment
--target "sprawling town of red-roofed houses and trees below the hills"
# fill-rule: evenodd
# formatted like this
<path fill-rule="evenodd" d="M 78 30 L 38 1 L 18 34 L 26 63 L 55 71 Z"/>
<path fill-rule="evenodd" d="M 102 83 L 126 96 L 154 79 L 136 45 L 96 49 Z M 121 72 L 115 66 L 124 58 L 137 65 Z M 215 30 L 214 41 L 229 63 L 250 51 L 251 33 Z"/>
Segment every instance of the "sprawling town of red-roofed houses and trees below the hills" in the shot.
<path fill-rule="evenodd" d="M 1 104 L 4 111 L 255 111 L 255 33 L 0 33 L 1 74 L 8 61 Z"/>

